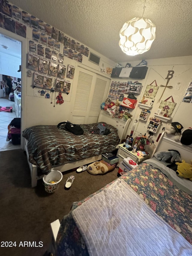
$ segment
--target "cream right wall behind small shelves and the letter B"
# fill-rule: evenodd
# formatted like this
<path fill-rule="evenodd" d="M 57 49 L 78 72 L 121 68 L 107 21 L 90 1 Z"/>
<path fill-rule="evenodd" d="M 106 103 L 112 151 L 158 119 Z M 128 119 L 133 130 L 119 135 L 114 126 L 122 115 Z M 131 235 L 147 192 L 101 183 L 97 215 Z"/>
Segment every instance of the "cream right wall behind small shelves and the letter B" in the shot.
<path fill-rule="evenodd" d="M 138 119 L 140 111 L 142 110 L 138 106 L 138 102 L 143 98 L 143 94 L 145 92 L 146 86 L 156 80 L 158 86 L 165 85 L 167 80 L 165 79 L 168 74 L 168 70 L 174 70 L 173 78 L 170 80 L 168 86 L 173 86 L 173 89 L 165 89 L 165 92 L 161 98 L 161 100 L 165 100 L 171 95 L 173 96 L 174 101 L 176 102 L 176 107 L 171 115 L 171 120 L 169 122 L 180 122 L 184 128 L 192 127 L 191 121 L 191 112 L 192 112 L 192 103 L 182 102 L 184 97 L 184 93 L 192 79 L 192 56 L 184 56 L 184 57 L 174 57 L 174 58 L 165 58 L 165 59 L 153 59 L 147 60 L 148 62 L 148 71 L 145 79 L 123 79 L 123 78 L 112 78 L 112 81 L 128 81 L 138 80 L 143 85 L 143 89 L 140 95 L 134 94 L 137 97 L 137 105 L 136 108 L 130 110 L 130 113 L 133 115 L 131 118 L 131 123 L 129 125 L 128 134 L 131 133 L 131 128 L 133 127 L 134 120 L 137 119 L 138 122 L 134 129 L 133 137 L 139 135 L 140 133 L 148 134 L 147 124 L 149 123 L 150 117 L 155 117 L 154 113 L 159 108 L 160 103 L 158 103 L 158 99 L 161 97 L 164 87 L 159 87 L 158 92 L 155 97 L 155 101 L 153 107 L 150 109 L 150 116 L 147 121 L 143 121 Z M 131 62 L 132 66 L 137 65 L 139 62 Z M 122 65 L 126 65 L 126 63 L 121 63 Z M 177 88 L 177 83 L 180 83 L 180 88 Z M 155 83 L 154 83 L 155 84 Z M 127 97 L 127 95 L 125 95 Z M 168 100 L 170 101 L 170 100 Z M 121 103 L 121 102 L 120 102 Z M 156 139 L 158 135 L 161 133 L 162 128 L 166 127 L 167 123 L 162 121 L 162 124 L 157 131 L 156 134 L 153 135 L 155 140 L 155 144 L 157 145 Z M 166 136 L 166 135 L 165 135 Z M 173 137 L 172 135 L 167 135 L 168 137 Z M 149 149 L 149 147 L 148 147 Z M 152 151 L 152 148 L 149 149 Z"/>

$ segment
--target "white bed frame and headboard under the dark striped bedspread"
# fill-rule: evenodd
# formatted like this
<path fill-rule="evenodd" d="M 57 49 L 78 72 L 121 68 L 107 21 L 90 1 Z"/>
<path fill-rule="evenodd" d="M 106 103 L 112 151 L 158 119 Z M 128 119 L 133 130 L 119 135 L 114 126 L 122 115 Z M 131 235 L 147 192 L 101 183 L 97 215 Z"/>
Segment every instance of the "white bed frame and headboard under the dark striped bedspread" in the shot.
<path fill-rule="evenodd" d="M 114 127 L 116 127 L 118 129 L 120 143 L 121 143 L 122 139 L 125 139 L 125 137 L 126 137 L 126 133 L 127 133 L 127 129 L 128 129 L 130 121 L 131 121 L 131 118 L 129 118 L 126 122 L 122 119 L 112 118 L 108 113 L 105 113 L 104 110 L 101 110 L 99 117 L 98 117 L 98 122 L 106 122 L 107 124 L 113 125 Z M 37 186 L 37 181 L 39 179 L 43 179 L 44 175 L 38 176 L 38 167 L 29 162 L 29 153 L 28 153 L 28 149 L 27 149 L 27 143 L 28 143 L 28 140 L 24 139 L 24 150 L 26 151 L 27 161 L 29 164 L 30 172 L 31 172 L 31 185 L 32 185 L 32 188 L 34 188 Z M 65 164 L 62 164 L 59 166 L 54 166 L 52 168 L 52 170 L 58 170 L 60 172 L 64 172 L 64 171 L 68 171 L 70 169 L 73 169 L 73 168 L 76 168 L 76 167 L 79 167 L 82 165 L 86 165 L 86 164 L 90 164 L 95 161 L 99 161 L 101 159 L 102 159 L 102 155 L 97 155 L 97 156 L 93 156 L 93 157 L 86 158 L 83 160 L 68 162 L 68 163 L 65 163 Z"/>

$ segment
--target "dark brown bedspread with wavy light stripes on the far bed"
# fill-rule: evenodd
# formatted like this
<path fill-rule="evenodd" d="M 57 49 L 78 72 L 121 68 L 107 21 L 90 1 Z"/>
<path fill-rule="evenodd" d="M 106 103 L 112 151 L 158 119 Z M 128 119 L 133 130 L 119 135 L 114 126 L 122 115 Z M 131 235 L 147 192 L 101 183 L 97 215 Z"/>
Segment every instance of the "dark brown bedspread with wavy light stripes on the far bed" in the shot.
<path fill-rule="evenodd" d="M 52 166 L 115 150 L 119 144 L 117 129 L 104 124 L 110 130 L 108 135 L 90 132 L 97 123 L 80 125 L 84 131 L 82 135 L 58 129 L 57 125 L 36 125 L 26 128 L 22 136 L 29 141 L 27 147 L 30 163 L 37 165 L 41 173 L 48 174 Z"/>

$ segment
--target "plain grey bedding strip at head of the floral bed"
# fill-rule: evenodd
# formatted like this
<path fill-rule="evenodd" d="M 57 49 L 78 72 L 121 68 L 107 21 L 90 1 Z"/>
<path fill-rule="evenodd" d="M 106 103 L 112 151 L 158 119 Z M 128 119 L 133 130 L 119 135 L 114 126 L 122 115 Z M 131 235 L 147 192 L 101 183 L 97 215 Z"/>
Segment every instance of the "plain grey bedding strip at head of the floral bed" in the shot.
<path fill-rule="evenodd" d="M 176 185 L 178 188 L 182 189 L 184 192 L 192 196 L 192 181 L 190 181 L 189 179 L 185 179 L 177 176 L 174 170 L 167 167 L 169 163 L 158 161 L 157 158 L 155 157 L 147 159 L 144 162 L 159 169 L 162 173 L 164 173 L 167 176 L 168 179 L 170 179 L 170 181 L 173 182 L 174 185 Z"/>

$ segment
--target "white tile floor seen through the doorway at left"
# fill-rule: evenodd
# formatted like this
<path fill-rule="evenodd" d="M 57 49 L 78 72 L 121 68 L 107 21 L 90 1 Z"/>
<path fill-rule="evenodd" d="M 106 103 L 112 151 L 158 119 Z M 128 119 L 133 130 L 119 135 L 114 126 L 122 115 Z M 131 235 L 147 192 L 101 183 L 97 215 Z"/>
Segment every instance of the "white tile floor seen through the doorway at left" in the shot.
<path fill-rule="evenodd" d="M 10 102 L 10 101 L 9 101 Z M 6 100 L 0 98 L 0 106 L 6 107 Z M 8 125 L 16 117 L 15 112 L 0 111 L 0 151 L 20 149 L 21 145 L 13 145 L 11 140 L 6 141 Z"/>

